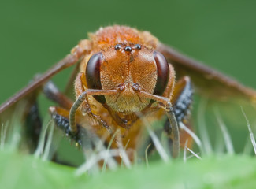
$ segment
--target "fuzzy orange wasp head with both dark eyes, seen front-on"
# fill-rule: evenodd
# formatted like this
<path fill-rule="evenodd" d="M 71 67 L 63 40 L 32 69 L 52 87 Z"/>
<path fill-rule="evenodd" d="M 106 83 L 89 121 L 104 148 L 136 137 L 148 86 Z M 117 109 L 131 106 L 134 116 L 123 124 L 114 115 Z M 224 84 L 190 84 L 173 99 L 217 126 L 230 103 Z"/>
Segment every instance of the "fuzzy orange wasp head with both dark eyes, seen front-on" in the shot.
<path fill-rule="evenodd" d="M 99 102 L 106 102 L 114 111 L 132 113 L 150 103 L 140 91 L 154 95 L 165 91 L 169 65 L 163 55 L 145 46 L 117 44 L 90 58 L 86 78 L 89 88 L 117 90 L 116 95 L 96 98 Z"/>

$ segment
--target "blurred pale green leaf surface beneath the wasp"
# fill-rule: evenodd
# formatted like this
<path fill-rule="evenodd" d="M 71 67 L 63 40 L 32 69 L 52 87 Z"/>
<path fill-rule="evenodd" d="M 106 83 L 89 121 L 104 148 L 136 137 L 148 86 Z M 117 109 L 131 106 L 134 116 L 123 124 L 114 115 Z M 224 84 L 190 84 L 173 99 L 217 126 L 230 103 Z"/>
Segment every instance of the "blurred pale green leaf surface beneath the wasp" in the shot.
<path fill-rule="evenodd" d="M 76 176 L 76 169 L 28 155 L 0 152 L 0 188 L 255 188 L 256 160 L 223 156 L 136 165 Z"/>

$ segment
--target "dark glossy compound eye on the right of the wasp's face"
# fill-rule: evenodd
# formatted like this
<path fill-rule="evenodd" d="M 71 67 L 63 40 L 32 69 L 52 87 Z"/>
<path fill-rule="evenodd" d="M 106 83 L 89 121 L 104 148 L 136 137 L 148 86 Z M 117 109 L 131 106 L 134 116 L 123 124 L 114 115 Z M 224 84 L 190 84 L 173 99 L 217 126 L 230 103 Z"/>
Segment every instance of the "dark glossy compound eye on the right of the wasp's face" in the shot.
<path fill-rule="evenodd" d="M 154 95 L 161 96 L 169 81 L 169 65 L 164 55 L 158 51 L 154 51 L 154 61 L 158 68 L 158 80 L 154 88 Z"/>

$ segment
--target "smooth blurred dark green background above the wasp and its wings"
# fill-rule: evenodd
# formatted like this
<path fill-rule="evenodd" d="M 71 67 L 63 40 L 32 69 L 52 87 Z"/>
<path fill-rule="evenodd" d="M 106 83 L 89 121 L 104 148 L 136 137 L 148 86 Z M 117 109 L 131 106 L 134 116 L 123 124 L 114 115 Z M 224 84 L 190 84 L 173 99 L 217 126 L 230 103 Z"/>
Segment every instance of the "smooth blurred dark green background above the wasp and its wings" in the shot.
<path fill-rule="evenodd" d="M 1 1 L 0 102 L 87 32 L 125 24 L 256 87 L 256 1 Z M 64 86 L 69 72 L 55 79 Z"/>

